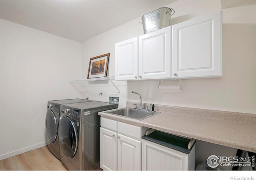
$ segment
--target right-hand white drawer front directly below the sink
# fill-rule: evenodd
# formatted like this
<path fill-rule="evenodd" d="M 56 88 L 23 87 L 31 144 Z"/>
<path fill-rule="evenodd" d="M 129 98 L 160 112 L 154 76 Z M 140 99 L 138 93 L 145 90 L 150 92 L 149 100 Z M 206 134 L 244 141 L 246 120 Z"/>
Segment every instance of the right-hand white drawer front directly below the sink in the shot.
<path fill-rule="evenodd" d="M 125 134 L 134 138 L 141 138 L 141 127 L 132 124 L 118 122 L 118 133 Z"/>

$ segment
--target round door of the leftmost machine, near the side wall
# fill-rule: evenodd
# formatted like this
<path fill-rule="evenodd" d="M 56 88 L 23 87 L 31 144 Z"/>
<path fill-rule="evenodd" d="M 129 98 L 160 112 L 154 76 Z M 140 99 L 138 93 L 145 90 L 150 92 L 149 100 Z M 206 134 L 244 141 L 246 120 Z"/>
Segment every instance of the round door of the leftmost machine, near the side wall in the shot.
<path fill-rule="evenodd" d="M 58 122 L 57 118 L 52 112 L 52 110 L 48 110 L 45 118 L 46 124 L 46 135 L 47 142 L 55 142 L 58 135 Z"/>

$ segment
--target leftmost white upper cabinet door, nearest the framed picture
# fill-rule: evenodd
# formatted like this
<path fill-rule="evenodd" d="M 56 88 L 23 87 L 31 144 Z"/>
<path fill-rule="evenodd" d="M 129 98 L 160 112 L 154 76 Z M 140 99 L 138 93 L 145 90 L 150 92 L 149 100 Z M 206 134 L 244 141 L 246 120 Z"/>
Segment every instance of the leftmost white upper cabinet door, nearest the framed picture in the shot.
<path fill-rule="evenodd" d="M 138 76 L 138 37 L 115 44 L 116 80 L 136 80 Z"/>

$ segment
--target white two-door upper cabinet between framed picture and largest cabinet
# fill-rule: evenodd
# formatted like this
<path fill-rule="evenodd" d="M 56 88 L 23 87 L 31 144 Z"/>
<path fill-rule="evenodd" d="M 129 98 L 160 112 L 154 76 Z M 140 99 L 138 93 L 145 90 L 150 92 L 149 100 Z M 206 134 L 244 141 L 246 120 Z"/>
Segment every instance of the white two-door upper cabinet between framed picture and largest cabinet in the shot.
<path fill-rule="evenodd" d="M 116 80 L 171 78 L 171 27 L 115 44 Z"/>

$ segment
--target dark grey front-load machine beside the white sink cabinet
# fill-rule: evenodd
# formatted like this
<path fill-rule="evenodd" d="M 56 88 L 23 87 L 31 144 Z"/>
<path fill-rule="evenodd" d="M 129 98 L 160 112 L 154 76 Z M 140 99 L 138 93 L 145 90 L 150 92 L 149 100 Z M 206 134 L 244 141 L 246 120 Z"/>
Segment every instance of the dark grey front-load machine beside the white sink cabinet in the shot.
<path fill-rule="evenodd" d="M 68 170 L 101 170 L 98 112 L 115 108 L 118 104 L 99 101 L 61 105 L 60 157 Z"/>

